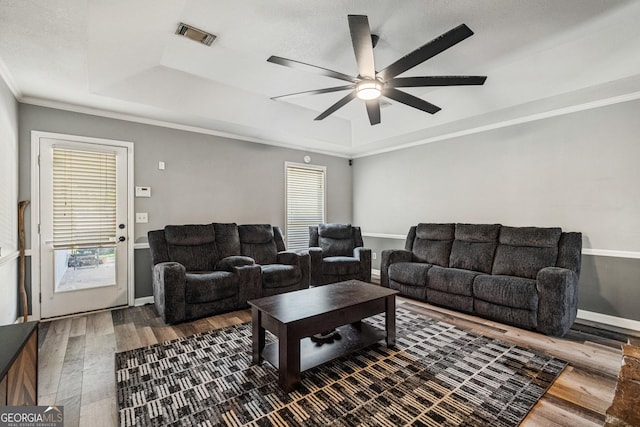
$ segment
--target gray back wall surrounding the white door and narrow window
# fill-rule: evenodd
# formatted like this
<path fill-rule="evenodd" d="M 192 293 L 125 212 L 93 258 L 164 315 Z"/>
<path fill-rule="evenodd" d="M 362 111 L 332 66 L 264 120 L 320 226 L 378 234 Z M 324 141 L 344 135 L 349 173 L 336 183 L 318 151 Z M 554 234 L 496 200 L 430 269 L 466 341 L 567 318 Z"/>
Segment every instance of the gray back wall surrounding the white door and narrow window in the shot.
<path fill-rule="evenodd" d="M 312 164 L 327 167 L 327 221 L 351 222 L 353 194 L 347 159 L 26 104 L 20 104 L 22 198 L 30 198 L 32 130 L 134 143 L 135 185 L 150 186 L 152 196 L 135 199 L 135 211 L 149 214 L 148 224 L 135 226 L 136 242 L 146 242 L 147 231 L 166 224 L 283 226 L 284 163 L 302 163 L 306 154 Z M 165 162 L 165 170 L 158 169 L 159 161 Z M 142 251 L 136 250 L 136 257 L 143 256 Z M 144 269 L 143 265 L 142 260 L 136 261 L 136 267 Z M 137 277 L 141 281 L 136 283 L 137 297 L 150 295 L 148 276 L 144 277 Z"/>

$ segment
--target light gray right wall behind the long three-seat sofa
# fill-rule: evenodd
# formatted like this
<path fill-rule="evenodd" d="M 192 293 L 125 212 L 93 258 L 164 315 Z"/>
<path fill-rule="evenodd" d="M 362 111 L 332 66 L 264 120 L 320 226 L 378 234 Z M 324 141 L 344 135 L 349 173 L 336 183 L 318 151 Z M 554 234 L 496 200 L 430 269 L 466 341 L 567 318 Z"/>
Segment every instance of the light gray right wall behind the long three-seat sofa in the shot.
<path fill-rule="evenodd" d="M 419 222 L 560 226 L 581 231 L 584 248 L 638 253 L 638 111 L 630 101 L 358 158 L 354 224 L 403 236 Z M 638 276 L 597 258 L 585 261 L 580 308 L 640 320 L 621 300 L 640 300 Z"/>

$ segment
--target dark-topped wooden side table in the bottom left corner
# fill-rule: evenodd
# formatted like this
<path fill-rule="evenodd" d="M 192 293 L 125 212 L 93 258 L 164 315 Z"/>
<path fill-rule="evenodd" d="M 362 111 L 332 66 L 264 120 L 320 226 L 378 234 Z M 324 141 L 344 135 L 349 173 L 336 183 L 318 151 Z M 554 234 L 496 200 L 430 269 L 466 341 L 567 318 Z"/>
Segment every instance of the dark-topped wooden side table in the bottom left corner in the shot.
<path fill-rule="evenodd" d="M 0 326 L 0 406 L 38 404 L 38 322 Z"/>

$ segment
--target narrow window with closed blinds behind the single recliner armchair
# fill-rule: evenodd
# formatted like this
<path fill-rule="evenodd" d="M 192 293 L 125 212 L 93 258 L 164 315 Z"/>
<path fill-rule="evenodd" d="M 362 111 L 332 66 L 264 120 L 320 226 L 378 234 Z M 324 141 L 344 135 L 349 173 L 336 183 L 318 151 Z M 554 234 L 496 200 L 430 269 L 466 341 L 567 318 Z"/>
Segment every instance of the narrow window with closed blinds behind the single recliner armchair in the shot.
<path fill-rule="evenodd" d="M 324 166 L 285 163 L 287 249 L 309 247 L 309 226 L 325 218 Z"/>

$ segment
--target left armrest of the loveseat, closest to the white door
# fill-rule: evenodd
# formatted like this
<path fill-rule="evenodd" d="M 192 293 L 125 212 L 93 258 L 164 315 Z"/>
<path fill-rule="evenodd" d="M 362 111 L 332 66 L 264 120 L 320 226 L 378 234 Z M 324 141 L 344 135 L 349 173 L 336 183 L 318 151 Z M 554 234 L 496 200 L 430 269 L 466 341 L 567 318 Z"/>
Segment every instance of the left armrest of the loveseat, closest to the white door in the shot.
<path fill-rule="evenodd" d="M 177 262 L 161 262 L 153 267 L 153 301 L 167 324 L 185 320 L 186 269 Z"/>

